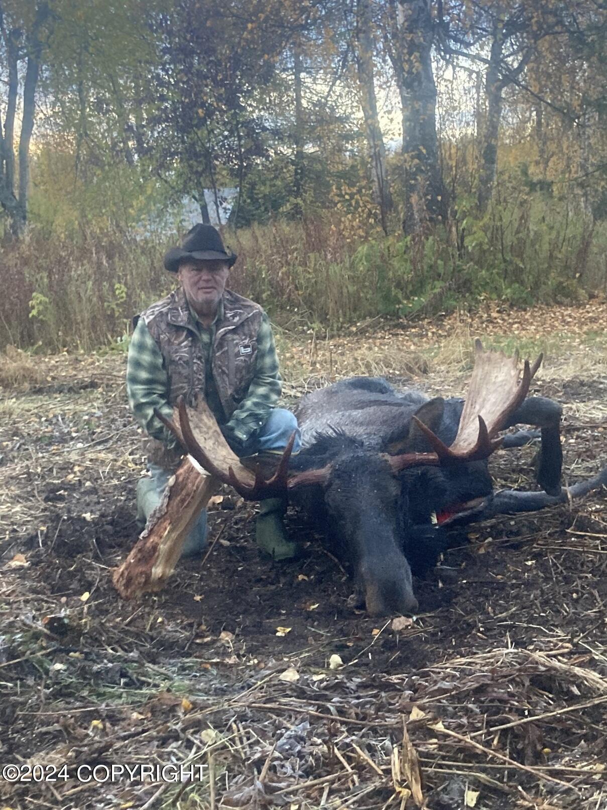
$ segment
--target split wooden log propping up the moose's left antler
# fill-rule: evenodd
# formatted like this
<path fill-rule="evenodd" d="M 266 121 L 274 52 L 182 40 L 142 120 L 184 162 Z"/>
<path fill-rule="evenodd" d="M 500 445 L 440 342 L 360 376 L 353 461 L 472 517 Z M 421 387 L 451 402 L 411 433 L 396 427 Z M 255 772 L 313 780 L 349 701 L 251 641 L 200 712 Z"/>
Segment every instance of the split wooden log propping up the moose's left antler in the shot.
<path fill-rule="evenodd" d="M 124 599 L 163 588 L 175 569 L 185 538 L 219 485 L 217 478 L 206 475 L 196 462 L 185 458 L 168 481 L 163 500 L 150 515 L 129 556 L 114 569 L 112 581 Z"/>

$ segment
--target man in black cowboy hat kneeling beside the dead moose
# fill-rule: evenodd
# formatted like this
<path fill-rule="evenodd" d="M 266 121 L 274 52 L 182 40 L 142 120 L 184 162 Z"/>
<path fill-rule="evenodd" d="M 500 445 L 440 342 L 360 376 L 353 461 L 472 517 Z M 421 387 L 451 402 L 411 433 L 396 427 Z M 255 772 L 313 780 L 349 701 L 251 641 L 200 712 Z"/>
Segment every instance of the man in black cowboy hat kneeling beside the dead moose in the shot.
<path fill-rule="evenodd" d="M 180 396 L 194 406 L 204 396 L 232 450 L 244 458 L 281 456 L 293 431 L 299 452 L 299 430 L 291 411 L 275 407 L 282 380 L 274 335 L 261 306 L 226 289 L 236 254 L 227 254 L 212 225 L 197 224 L 180 248 L 164 257 L 180 287 L 134 318 L 129 345 L 126 388 L 138 424 L 150 438 L 151 477 L 137 485 L 141 527 L 162 497 L 183 450 L 155 416 L 172 417 Z M 287 539 L 282 498 L 261 501 L 257 544 L 276 560 L 299 552 Z M 198 555 L 206 544 L 206 511 L 185 541 L 182 556 Z"/>

